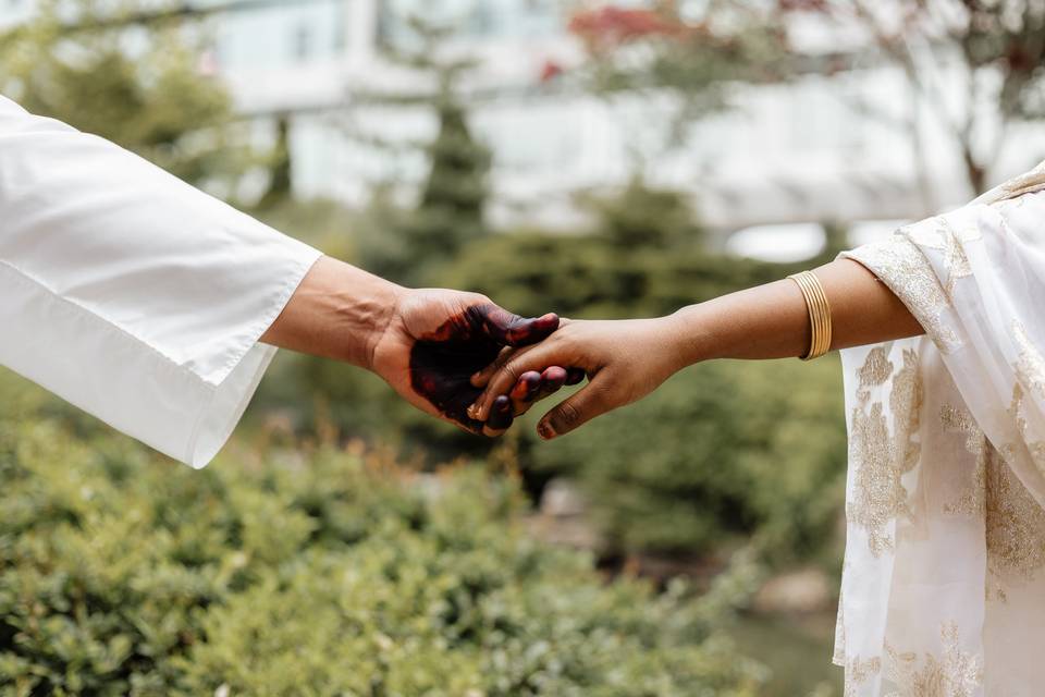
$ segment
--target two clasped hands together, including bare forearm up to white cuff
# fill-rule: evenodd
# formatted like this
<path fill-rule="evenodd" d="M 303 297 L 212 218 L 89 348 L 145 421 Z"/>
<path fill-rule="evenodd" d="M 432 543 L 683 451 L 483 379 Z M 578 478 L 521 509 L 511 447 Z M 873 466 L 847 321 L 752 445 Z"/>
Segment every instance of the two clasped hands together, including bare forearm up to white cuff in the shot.
<path fill-rule="evenodd" d="M 687 362 L 675 316 L 525 319 L 477 293 L 414 290 L 323 257 L 261 338 L 381 376 L 418 408 L 500 436 L 564 386 L 588 384 L 541 419 L 545 439 L 653 391 Z"/>

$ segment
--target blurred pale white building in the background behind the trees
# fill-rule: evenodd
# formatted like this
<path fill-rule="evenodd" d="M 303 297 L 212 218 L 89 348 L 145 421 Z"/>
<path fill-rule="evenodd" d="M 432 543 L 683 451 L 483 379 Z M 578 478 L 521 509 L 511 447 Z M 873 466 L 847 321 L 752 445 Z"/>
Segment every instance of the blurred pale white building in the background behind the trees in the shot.
<path fill-rule="evenodd" d="M 2 21 L 24 20 L 34 2 L 0 1 Z M 582 227 L 577 192 L 620 186 L 641 171 L 649 183 L 692 197 L 713 244 L 786 260 L 815 254 L 824 222 L 848 225 L 861 242 L 972 193 L 935 106 L 919 100 L 903 68 L 884 60 L 859 27 L 794 22 L 787 30 L 802 70 L 776 83 L 738 82 L 730 108 L 701 118 L 679 142 L 669 133 L 678 108 L 669 94 L 605 98 L 564 87 L 583 69 L 583 46 L 570 30 L 582 5 L 197 0 L 183 11 L 208 15 L 211 49 L 200 70 L 226 81 L 258 137 L 271 142 L 278 120 L 288 124 L 299 197 L 359 205 L 377 183 L 408 195 L 425 178 L 425 158 L 374 146 L 422 142 L 438 125 L 427 110 L 394 99 L 419 86 L 389 58 L 409 44 L 407 17 L 418 13 L 454 25 L 451 50 L 477 61 L 463 89 L 493 152 L 494 228 Z M 1009 142 L 1019 145 L 998 172 L 1045 155 L 1045 138 L 1032 131 Z"/>

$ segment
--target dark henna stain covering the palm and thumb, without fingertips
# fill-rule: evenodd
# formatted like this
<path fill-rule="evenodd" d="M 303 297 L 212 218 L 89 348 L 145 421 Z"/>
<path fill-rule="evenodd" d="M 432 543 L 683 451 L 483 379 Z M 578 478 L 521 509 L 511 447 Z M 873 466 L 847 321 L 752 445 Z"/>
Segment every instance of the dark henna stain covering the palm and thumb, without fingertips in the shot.
<path fill-rule="evenodd" d="M 528 346 L 558 329 L 558 317 L 524 319 L 493 304 L 472 305 L 417 340 L 410 350 L 410 384 L 440 414 L 475 433 L 483 424 L 468 416 L 482 389 L 471 376 L 493 363 L 505 346 Z M 508 426 L 511 426 L 511 400 Z M 503 430 L 507 426 L 491 428 Z"/>

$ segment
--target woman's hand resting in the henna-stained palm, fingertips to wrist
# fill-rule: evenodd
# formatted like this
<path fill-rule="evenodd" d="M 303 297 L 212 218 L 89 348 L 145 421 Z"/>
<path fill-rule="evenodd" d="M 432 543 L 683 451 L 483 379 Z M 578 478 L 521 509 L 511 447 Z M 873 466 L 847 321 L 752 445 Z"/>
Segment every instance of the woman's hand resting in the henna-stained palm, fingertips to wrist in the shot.
<path fill-rule="evenodd" d="M 683 334 L 673 318 L 626 321 L 567 321 L 542 343 L 506 350 L 476 375 L 485 387 L 469 415 L 485 421 L 528 380 L 568 366 L 583 371 L 589 383 L 549 412 L 538 425 L 545 440 L 563 436 L 587 421 L 642 399 L 685 367 Z M 550 367 L 552 366 L 552 367 Z M 566 372 L 563 370 L 563 372 Z M 513 400 L 518 405 L 517 400 Z M 524 409 L 525 411 L 525 409 Z"/>

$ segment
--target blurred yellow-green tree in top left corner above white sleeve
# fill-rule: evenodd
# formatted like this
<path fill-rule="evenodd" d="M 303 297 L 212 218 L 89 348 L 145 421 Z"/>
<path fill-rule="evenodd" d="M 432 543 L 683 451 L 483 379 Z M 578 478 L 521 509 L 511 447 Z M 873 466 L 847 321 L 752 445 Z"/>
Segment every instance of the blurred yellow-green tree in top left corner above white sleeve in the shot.
<path fill-rule="evenodd" d="M 0 34 L 0 89 L 190 183 L 238 176 L 249 151 L 235 143 L 228 90 L 200 69 L 189 20 L 126 24 L 116 20 L 140 13 L 120 7 L 39 3 L 27 24 Z"/>

